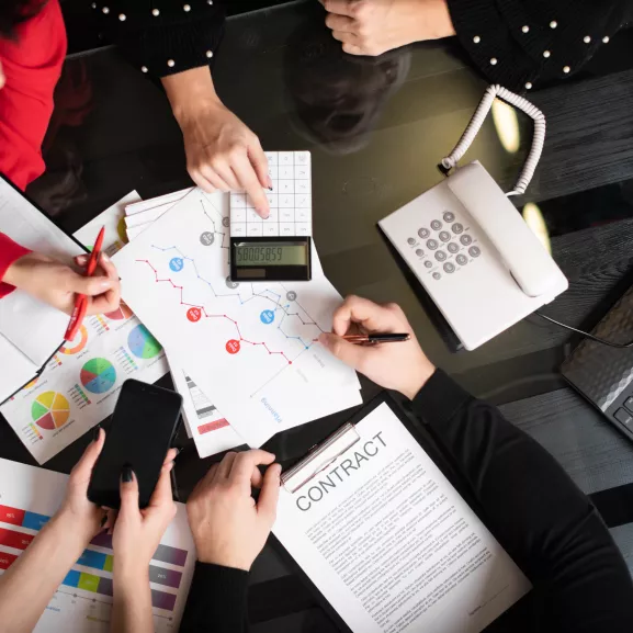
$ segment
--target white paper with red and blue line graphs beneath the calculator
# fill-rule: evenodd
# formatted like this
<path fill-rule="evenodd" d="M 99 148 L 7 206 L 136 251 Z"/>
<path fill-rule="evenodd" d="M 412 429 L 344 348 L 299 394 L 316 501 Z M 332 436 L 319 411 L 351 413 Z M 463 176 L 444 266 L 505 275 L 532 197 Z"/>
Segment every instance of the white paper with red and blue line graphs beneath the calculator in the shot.
<path fill-rule="evenodd" d="M 353 370 L 315 339 L 341 297 L 310 282 L 228 279 L 228 203 L 196 189 L 114 257 L 123 296 L 250 445 L 361 404 Z"/>

